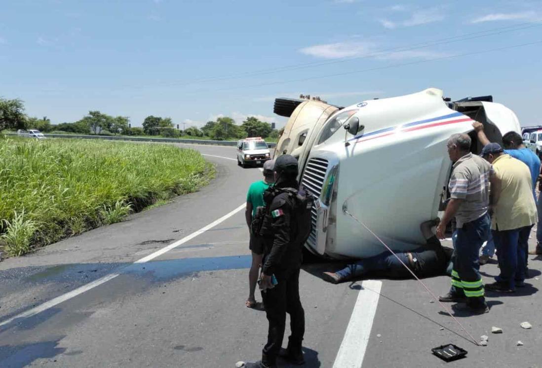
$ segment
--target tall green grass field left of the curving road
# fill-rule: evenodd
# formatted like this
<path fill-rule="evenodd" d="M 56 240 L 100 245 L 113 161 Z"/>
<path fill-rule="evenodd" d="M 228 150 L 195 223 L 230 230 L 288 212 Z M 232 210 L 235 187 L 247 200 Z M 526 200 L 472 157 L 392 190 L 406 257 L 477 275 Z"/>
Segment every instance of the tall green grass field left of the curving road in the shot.
<path fill-rule="evenodd" d="M 166 144 L 0 137 L 0 246 L 28 253 L 195 192 L 212 175 L 201 154 Z"/>

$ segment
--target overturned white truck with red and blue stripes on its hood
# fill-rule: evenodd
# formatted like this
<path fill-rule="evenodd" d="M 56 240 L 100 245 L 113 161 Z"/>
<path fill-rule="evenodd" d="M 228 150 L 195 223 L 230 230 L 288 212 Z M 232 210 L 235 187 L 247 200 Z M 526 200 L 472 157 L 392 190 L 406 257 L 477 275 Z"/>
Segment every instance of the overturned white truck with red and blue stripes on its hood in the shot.
<path fill-rule="evenodd" d="M 491 96 L 451 102 L 442 90 L 367 100 L 349 107 L 277 98 L 275 113 L 289 117 L 275 157 L 291 154 L 300 181 L 318 198 L 306 247 L 327 258 L 366 258 L 383 246 L 344 209 L 364 222 L 394 251 L 411 251 L 424 239 L 423 221 L 434 219 L 448 197 L 451 173 L 446 142 L 483 123 L 492 142 L 513 130 L 512 110 Z"/>

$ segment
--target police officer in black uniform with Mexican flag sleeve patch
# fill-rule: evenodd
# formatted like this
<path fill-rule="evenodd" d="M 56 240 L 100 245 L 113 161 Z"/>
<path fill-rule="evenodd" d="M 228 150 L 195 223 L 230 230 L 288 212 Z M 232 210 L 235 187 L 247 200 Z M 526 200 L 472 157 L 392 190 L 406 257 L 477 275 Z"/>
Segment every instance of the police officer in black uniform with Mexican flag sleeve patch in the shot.
<path fill-rule="evenodd" d="M 276 367 L 276 358 L 294 364 L 304 364 L 301 341 L 305 333 L 305 311 L 299 299 L 299 270 L 301 267 L 301 242 L 296 244 L 298 224 L 293 216 L 295 200 L 282 188 L 298 189 L 298 161 L 291 155 L 282 155 L 275 161 L 275 187 L 264 193 L 270 203 L 263 220 L 261 234 L 264 237 L 260 290 L 263 306 L 269 321 L 267 344 L 263 347 L 263 368 Z M 274 276 L 274 278 L 273 278 Z M 274 282 L 276 279 L 276 283 Z M 286 324 L 290 315 L 292 335 L 287 349 L 282 349 Z"/>

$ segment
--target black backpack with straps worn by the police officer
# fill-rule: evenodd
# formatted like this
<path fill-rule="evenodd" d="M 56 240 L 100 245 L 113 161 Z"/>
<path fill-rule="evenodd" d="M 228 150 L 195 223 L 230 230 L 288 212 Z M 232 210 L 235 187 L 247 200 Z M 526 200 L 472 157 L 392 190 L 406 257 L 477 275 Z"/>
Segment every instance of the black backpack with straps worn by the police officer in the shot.
<path fill-rule="evenodd" d="M 294 204 L 292 221 L 294 223 L 295 234 L 294 239 L 291 239 L 294 244 L 305 244 L 308 236 L 312 231 L 312 207 L 314 205 L 314 196 L 308 192 L 305 187 L 299 190 L 295 188 L 273 188 L 274 196 L 280 193 L 288 193 Z M 273 198 L 274 198 L 273 196 Z M 266 214 L 269 213 L 271 200 L 268 200 L 266 207 L 257 207 L 256 215 L 250 224 L 250 229 L 253 234 L 260 234 L 263 220 Z"/>

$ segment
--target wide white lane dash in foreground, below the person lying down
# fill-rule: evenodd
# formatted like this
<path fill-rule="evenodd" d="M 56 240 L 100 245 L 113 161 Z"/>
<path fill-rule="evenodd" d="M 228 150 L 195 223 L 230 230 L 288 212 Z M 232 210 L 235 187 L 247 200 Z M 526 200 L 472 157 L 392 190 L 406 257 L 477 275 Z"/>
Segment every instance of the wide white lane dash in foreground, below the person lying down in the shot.
<path fill-rule="evenodd" d="M 369 343 L 382 281 L 365 280 L 350 316 L 333 368 L 360 368 Z"/>

